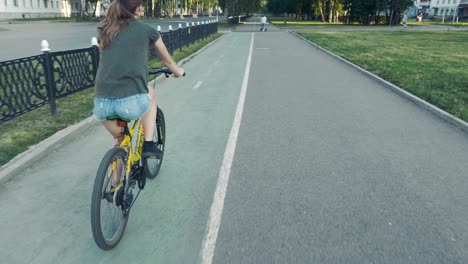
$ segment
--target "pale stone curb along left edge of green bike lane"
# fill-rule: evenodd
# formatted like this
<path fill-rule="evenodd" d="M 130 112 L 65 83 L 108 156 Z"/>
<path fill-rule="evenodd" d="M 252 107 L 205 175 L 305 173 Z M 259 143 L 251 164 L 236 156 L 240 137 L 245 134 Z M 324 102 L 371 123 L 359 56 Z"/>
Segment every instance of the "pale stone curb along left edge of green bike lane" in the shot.
<path fill-rule="evenodd" d="M 201 48 L 197 52 L 182 59 L 180 62 L 177 63 L 177 65 L 183 65 L 187 63 L 193 57 L 197 56 L 199 53 L 209 48 L 211 45 L 213 45 L 216 41 L 220 40 L 224 36 L 226 35 L 220 36 L 219 38 L 206 44 L 203 48 Z M 158 76 L 157 78 L 149 82 L 148 85 L 152 85 L 155 81 L 158 82 L 162 78 L 165 78 L 165 76 L 164 75 Z M 90 128 L 91 126 L 98 125 L 98 124 L 99 122 L 94 118 L 94 116 L 90 116 L 79 123 L 68 126 L 67 128 L 58 131 L 51 137 L 44 139 L 38 144 L 30 146 L 26 151 L 18 154 L 8 163 L 0 167 L 0 184 L 8 181 L 14 175 L 24 171 L 25 169 L 30 167 L 32 163 L 35 163 L 41 160 L 44 156 L 46 156 L 46 154 L 50 153 L 58 143 L 64 142 L 70 137 L 75 136 L 83 132 L 84 130 Z"/>

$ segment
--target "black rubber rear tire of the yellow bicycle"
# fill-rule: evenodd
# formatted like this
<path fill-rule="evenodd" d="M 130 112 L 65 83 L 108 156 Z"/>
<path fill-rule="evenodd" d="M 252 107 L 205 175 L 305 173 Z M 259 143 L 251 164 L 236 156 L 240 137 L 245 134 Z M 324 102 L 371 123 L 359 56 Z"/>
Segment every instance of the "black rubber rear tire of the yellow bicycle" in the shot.
<path fill-rule="evenodd" d="M 94 181 L 93 195 L 91 199 L 91 229 L 96 245 L 103 250 L 110 250 L 117 246 L 117 244 L 123 237 L 128 222 L 128 216 L 130 213 L 129 211 L 126 214 L 124 214 L 121 208 L 115 207 L 114 204 L 108 202 L 107 200 L 103 201 L 106 199 L 103 197 L 103 185 L 106 181 L 106 178 L 108 178 L 107 175 L 109 171 L 109 166 L 111 166 L 112 163 L 118 158 L 122 158 L 123 160 L 125 160 L 126 156 L 127 152 L 120 147 L 114 147 L 110 149 L 102 159 L 96 174 L 96 179 Z M 125 174 L 125 162 L 123 163 L 123 172 Z M 125 177 L 125 175 L 121 174 L 121 179 L 122 177 Z M 119 223 L 119 226 L 117 227 L 117 230 L 112 235 L 112 239 L 110 240 L 106 239 L 103 234 L 103 223 L 101 221 L 102 202 L 104 202 L 104 204 L 110 204 L 109 206 L 113 206 L 113 208 L 118 213 L 122 214 L 122 219 Z"/>

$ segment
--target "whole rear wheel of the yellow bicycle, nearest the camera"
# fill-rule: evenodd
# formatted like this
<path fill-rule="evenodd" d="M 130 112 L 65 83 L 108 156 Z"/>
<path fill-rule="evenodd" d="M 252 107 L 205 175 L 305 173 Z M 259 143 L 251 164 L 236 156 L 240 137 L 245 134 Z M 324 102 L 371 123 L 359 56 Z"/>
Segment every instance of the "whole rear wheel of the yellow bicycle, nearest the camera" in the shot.
<path fill-rule="evenodd" d="M 123 181 L 127 152 L 119 147 L 110 149 L 99 165 L 91 200 L 91 229 L 94 241 L 103 250 L 117 246 L 127 226 L 129 211 L 124 213 Z M 115 175 L 115 176 L 113 176 Z M 122 186 L 114 192 L 112 185 Z"/>

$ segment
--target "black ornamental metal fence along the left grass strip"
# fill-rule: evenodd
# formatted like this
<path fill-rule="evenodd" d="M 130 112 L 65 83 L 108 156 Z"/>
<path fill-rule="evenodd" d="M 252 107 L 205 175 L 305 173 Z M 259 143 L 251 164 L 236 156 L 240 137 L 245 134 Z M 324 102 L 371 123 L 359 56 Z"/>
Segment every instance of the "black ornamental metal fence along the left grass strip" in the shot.
<path fill-rule="evenodd" d="M 172 54 L 218 31 L 218 23 L 195 25 L 162 32 Z M 99 48 L 49 52 L 0 62 L 0 123 L 50 104 L 55 114 L 56 100 L 94 87 L 99 66 Z M 155 58 L 152 49 L 150 58 Z"/>

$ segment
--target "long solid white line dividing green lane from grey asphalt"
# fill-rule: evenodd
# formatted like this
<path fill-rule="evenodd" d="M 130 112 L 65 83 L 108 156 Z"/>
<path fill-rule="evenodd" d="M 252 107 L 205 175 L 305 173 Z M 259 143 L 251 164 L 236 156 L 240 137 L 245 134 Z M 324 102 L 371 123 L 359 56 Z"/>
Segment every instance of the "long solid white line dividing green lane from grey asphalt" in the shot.
<path fill-rule="evenodd" d="M 249 82 L 250 64 L 252 62 L 252 51 L 254 43 L 254 34 L 250 42 L 249 57 L 244 72 L 244 81 L 237 103 L 236 115 L 232 124 L 231 133 L 229 134 L 226 150 L 224 151 L 223 164 L 219 171 L 218 183 L 214 194 L 213 204 L 210 210 L 210 219 L 208 220 L 208 231 L 203 240 L 203 248 L 201 252 L 202 264 L 211 264 L 213 262 L 213 255 L 216 247 L 216 239 L 218 238 L 219 225 L 221 223 L 221 216 L 223 214 L 224 198 L 226 197 L 226 190 L 229 183 L 229 176 L 231 174 L 232 160 L 236 150 L 237 136 L 239 134 L 240 123 L 242 120 L 242 112 L 244 111 L 245 95 L 247 93 L 247 85 Z"/>

